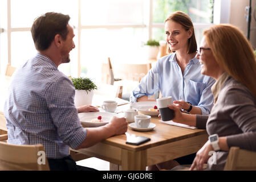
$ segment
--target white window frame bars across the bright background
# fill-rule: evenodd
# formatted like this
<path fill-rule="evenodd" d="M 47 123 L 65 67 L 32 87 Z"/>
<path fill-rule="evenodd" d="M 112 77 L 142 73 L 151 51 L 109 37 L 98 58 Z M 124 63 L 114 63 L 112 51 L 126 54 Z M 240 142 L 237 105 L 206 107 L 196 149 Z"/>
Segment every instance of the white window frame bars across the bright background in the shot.
<path fill-rule="evenodd" d="M 153 23 L 153 0 L 144 0 L 144 8 L 146 8 L 145 14 L 144 14 L 144 22 L 143 23 L 134 23 L 134 24 L 97 24 L 97 25 L 86 25 L 82 26 L 81 24 L 81 1 L 82 0 L 76 0 L 78 1 L 78 24 L 75 29 L 77 29 L 78 32 L 78 63 L 77 63 L 77 75 L 80 76 L 81 73 L 81 62 L 80 62 L 80 45 L 81 45 L 81 32 L 83 29 L 87 28 L 147 28 L 148 31 L 148 39 L 152 38 L 152 29 L 153 28 L 164 28 L 164 22 L 163 23 Z M 214 1 L 214 23 L 194 23 L 194 28 L 207 28 L 212 26 L 213 24 L 218 23 L 228 23 L 229 19 L 224 19 L 223 17 L 229 17 L 227 14 L 229 14 L 228 11 L 224 11 L 224 8 L 222 7 L 229 7 L 230 6 L 230 0 L 215 0 Z M 8 57 L 8 64 L 11 65 L 11 32 L 22 32 L 22 31 L 30 31 L 30 27 L 19 27 L 19 28 L 12 28 L 11 27 L 11 0 L 7 0 L 7 57 Z"/>

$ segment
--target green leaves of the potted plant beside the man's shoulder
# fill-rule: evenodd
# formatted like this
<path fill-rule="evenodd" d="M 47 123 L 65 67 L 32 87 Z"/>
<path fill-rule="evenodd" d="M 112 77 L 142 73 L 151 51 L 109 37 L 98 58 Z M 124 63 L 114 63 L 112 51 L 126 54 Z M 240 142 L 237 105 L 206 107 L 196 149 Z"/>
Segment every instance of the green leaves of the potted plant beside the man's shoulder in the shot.
<path fill-rule="evenodd" d="M 76 90 L 86 90 L 90 92 L 91 90 L 96 90 L 97 86 L 94 84 L 94 82 L 90 78 L 72 78 L 71 81 L 73 82 Z"/>

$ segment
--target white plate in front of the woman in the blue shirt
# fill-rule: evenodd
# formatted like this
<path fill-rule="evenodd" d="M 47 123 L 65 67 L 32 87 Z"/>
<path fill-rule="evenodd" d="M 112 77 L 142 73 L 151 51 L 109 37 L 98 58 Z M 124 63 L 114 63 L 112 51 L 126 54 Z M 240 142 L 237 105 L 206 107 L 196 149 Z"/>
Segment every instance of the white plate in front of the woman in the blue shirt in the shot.
<path fill-rule="evenodd" d="M 151 108 L 153 108 L 154 106 L 156 106 L 156 102 L 134 102 L 132 103 L 132 108 L 133 109 L 137 109 L 140 111 L 140 113 L 145 114 L 145 115 L 159 115 L 159 111 L 153 111 L 153 110 L 149 110 Z"/>

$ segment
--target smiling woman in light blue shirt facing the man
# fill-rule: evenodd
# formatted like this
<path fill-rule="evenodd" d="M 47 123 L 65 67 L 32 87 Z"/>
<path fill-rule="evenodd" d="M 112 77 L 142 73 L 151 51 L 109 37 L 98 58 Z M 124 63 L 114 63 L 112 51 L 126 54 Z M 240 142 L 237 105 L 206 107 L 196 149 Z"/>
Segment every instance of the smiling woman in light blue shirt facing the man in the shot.
<path fill-rule="evenodd" d="M 201 75 L 194 27 L 189 16 L 176 11 L 165 20 L 165 40 L 171 53 L 161 57 L 155 67 L 133 90 L 131 102 L 152 101 L 160 90 L 162 97 L 172 96 L 173 104 L 190 114 L 210 114 L 213 106 L 211 87 L 214 79 Z"/>

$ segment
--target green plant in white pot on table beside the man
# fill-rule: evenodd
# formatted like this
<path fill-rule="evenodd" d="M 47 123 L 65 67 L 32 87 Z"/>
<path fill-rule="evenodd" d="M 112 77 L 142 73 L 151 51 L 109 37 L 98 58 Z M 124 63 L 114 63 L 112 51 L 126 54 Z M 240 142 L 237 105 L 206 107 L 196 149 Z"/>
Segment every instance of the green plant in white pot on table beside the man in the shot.
<path fill-rule="evenodd" d="M 75 86 L 75 106 L 79 107 L 82 105 L 91 105 L 92 97 L 94 96 L 94 90 L 97 86 L 94 84 L 90 78 L 72 78 L 71 81 Z"/>

